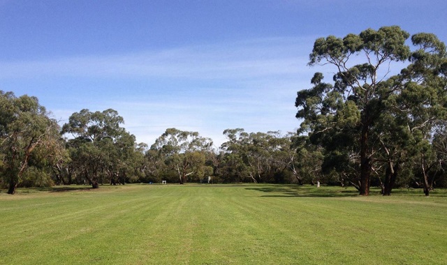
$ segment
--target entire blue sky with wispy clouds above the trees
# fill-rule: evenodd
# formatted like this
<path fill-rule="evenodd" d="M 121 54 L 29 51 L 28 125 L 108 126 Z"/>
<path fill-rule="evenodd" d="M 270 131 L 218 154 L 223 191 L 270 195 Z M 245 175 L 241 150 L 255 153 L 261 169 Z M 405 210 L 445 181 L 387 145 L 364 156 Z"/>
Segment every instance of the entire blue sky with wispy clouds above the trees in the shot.
<path fill-rule="evenodd" d="M 225 141 L 299 126 L 318 37 L 399 25 L 447 42 L 447 1 L 0 0 L 0 90 L 64 123 L 116 109 L 138 142 L 166 128 Z"/>

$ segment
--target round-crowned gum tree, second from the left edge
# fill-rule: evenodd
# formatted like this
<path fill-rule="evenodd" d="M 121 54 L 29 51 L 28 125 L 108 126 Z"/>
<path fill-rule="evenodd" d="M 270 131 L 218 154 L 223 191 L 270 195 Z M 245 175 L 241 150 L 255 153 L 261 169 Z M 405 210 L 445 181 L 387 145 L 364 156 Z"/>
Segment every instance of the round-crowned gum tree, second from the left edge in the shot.
<path fill-rule="evenodd" d="M 135 137 L 121 125 L 122 116 L 114 109 L 90 112 L 82 109 L 73 113 L 61 133 L 71 134 L 68 151 L 71 168 L 83 179 L 98 188 L 107 179 L 110 183 L 124 184 L 133 169 Z"/>

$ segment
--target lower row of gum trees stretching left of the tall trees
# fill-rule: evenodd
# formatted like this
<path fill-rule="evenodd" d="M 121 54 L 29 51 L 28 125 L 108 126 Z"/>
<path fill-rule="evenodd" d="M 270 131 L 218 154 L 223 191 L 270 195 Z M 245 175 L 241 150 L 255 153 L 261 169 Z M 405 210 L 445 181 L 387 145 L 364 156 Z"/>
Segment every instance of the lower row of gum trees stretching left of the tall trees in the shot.
<path fill-rule="evenodd" d="M 220 147 L 199 132 L 168 128 L 154 144 L 137 143 L 114 109 L 82 109 L 59 126 L 38 98 L 0 91 L 1 186 L 126 183 L 303 183 L 305 172 L 292 142 L 296 134 L 223 132 Z"/>

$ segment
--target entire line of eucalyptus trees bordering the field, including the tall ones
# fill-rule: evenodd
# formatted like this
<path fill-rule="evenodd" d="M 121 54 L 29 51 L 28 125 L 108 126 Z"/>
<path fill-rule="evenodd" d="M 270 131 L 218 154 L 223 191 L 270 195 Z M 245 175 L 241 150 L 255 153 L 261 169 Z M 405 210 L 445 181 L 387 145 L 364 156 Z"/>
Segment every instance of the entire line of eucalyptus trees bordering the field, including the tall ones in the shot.
<path fill-rule="evenodd" d="M 323 64 L 298 91 L 298 132 L 199 132 L 168 128 L 137 143 L 114 109 L 82 109 L 59 126 L 32 96 L 0 91 L 0 185 L 125 183 L 304 183 L 446 187 L 447 56 L 437 36 L 400 27 L 318 38 L 309 65 Z M 413 50 L 411 50 L 413 48 Z M 391 69 L 401 67 L 399 73 Z"/>

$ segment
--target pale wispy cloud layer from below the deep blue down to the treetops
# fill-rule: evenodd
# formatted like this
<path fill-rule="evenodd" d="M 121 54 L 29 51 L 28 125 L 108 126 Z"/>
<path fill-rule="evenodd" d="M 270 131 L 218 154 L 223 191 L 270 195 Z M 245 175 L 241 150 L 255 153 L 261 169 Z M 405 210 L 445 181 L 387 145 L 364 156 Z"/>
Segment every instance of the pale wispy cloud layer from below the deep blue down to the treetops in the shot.
<path fill-rule="evenodd" d="M 227 128 L 286 132 L 298 127 L 293 101 L 304 86 L 300 80 L 312 75 L 306 63 L 313 39 L 265 38 L 132 54 L 3 61 L 0 80 L 42 83 L 31 94 L 42 95 L 56 119 L 68 120 L 82 108 L 112 107 L 139 142 L 152 144 L 166 128 L 175 127 L 196 130 L 219 145 Z M 142 86 L 138 93 L 135 80 L 145 80 L 137 82 Z M 67 83 L 70 91 L 58 90 Z M 103 92 L 95 91 L 98 87 Z M 51 106 L 67 96 L 67 105 Z"/>

